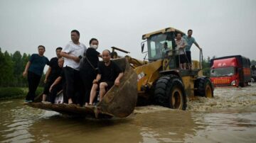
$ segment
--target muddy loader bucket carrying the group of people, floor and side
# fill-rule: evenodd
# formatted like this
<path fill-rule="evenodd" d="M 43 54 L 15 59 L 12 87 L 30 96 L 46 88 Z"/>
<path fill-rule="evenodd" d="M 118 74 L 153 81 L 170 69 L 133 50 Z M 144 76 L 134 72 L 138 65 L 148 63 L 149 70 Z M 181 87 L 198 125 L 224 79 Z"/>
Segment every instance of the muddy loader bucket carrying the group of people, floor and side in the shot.
<path fill-rule="evenodd" d="M 133 112 L 137 103 L 137 74 L 129 66 L 129 62 L 125 57 L 114 59 L 114 62 L 124 71 L 124 76 L 120 81 L 119 87 L 112 86 L 97 106 L 79 107 L 63 103 L 45 104 L 39 100 L 34 103 L 23 104 L 43 110 L 54 110 L 67 115 L 125 118 Z"/>

